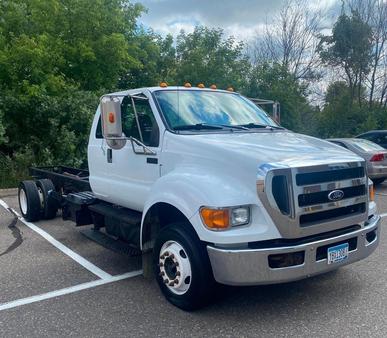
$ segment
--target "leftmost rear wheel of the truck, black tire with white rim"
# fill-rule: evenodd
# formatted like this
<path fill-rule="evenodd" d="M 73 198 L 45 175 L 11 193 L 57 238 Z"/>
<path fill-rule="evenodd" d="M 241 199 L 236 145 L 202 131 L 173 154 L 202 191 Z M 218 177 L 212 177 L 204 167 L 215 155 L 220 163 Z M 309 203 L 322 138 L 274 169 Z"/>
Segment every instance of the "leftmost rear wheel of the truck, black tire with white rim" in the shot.
<path fill-rule="evenodd" d="M 35 222 L 40 215 L 40 198 L 34 181 L 22 181 L 19 184 L 19 207 L 27 222 Z"/>

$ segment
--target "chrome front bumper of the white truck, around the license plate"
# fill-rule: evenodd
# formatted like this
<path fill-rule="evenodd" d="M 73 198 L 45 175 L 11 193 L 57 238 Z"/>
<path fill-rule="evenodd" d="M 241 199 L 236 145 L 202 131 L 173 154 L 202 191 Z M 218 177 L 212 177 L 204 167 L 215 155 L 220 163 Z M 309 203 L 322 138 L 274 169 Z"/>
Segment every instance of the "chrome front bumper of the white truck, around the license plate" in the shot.
<path fill-rule="evenodd" d="M 376 237 L 367 243 L 366 234 L 376 229 Z M 316 261 L 320 246 L 334 244 L 357 237 L 357 246 L 349 251 L 348 258 L 328 265 L 327 259 Z M 364 227 L 344 235 L 311 241 L 297 246 L 264 249 L 225 249 L 207 245 L 215 280 L 228 285 L 260 285 L 291 282 L 360 261 L 375 251 L 380 239 L 380 216 L 374 215 L 364 222 Z M 334 245 L 332 245 L 334 246 Z M 286 268 L 269 267 L 268 256 L 305 251 L 304 263 Z"/>

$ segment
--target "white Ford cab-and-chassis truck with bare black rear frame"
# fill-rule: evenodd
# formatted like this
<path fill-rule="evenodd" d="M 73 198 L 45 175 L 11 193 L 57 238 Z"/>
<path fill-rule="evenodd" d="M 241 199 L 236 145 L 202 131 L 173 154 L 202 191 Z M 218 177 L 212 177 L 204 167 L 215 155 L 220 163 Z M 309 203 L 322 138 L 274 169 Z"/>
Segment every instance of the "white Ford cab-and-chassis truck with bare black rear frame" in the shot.
<path fill-rule="evenodd" d="M 272 104 L 273 116 L 260 104 Z M 340 268 L 378 246 L 366 163 L 277 123 L 279 104 L 215 86 L 101 97 L 89 171 L 30 168 L 28 221 L 55 217 L 128 256 L 166 299 L 195 309 L 216 282 L 283 283 Z"/>

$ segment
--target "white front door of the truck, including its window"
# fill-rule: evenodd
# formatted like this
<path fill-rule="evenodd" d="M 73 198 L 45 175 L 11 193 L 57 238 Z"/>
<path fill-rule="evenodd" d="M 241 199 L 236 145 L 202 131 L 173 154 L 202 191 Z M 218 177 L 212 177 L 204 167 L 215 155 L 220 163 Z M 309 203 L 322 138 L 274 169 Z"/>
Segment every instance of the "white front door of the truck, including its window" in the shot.
<path fill-rule="evenodd" d="M 127 140 L 122 149 L 111 149 L 111 159 L 107 161 L 106 166 L 110 201 L 142 211 L 152 185 L 160 177 L 158 162 L 162 142 L 149 100 L 134 99 L 134 104 L 143 143 L 156 152 L 156 155 L 135 154 L 132 143 Z M 121 101 L 121 121 L 126 137 L 141 140 L 130 97 L 123 97 Z M 134 147 L 136 152 L 144 151 L 138 145 Z"/>

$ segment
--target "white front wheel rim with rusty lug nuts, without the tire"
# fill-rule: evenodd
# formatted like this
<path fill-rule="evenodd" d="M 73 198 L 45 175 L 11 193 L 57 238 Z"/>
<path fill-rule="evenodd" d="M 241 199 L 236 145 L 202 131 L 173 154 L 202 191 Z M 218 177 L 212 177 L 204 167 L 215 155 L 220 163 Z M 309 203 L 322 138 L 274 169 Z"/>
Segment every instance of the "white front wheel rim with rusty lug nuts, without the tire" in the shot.
<path fill-rule="evenodd" d="M 187 292 L 192 281 L 192 269 L 185 249 L 178 242 L 168 241 L 160 250 L 159 275 L 174 294 Z"/>

